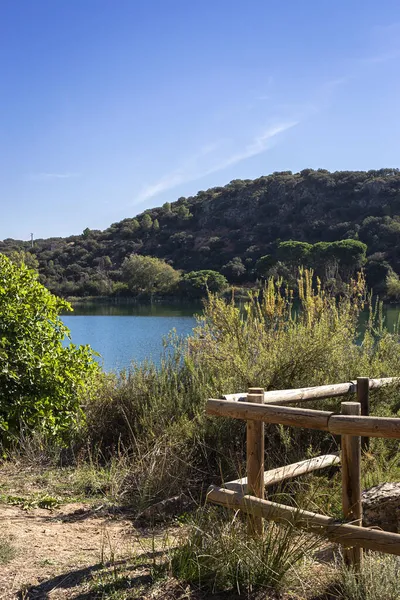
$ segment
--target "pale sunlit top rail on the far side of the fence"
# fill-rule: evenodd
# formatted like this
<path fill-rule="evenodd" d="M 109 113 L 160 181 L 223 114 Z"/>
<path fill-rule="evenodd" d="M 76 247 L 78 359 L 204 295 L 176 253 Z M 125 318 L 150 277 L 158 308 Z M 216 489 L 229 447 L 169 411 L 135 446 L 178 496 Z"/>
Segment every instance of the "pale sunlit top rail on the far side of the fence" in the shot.
<path fill-rule="evenodd" d="M 400 384 L 399 377 L 385 377 L 383 379 L 369 379 L 369 389 L 378 389 L 394 383 Z M 295 402 L 306 402 L 312 400 L 323 400 L 355 394 L 357 392 L 357 380 L 347 383 L 336 383 L 333 385 L 319 385 L 316 387 L 298 388 L 293 390 L 274 390 L 264 392 L 265 404 L 290 404 Z M 225 394 L 224 400 L 236 402 L 246 401 L 247 393 Z"/>

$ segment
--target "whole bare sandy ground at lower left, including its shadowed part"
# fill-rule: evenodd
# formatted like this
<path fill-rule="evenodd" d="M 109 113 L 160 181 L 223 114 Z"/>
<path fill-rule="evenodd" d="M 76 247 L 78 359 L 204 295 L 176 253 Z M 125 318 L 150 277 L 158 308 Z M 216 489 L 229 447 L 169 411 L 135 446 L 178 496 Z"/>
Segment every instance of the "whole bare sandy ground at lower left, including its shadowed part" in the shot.
<path fill-rule="evenodd" d="M 105 497 L 104 501 L 99 497 L 79 501 L 68 470 L 53 472 L 24 469 L 17 463 L 6 465 L 0 469 L 0 492 L 0 541 L 9 540 L 16 551 L 9 562 L 0 564 L 0 600 L 206 600 L 209 597 L 196 586 L 168 577 L 168 572 L 159 568 L 161 563 L 168 563 L 169 552 L 182 535 L 182 527 L 139 527 L 133 514 L 114 508 Z M 43 497 L 50 500 L 56 497 L 61 506 L 51 510 L 37 508 L 38 498 Z M 326 551 L 326 556 L 320 557 L 325 565 L 320 563 L 317 567 L 317 579 L 321 580 L 332 559 L 332 548 L 328 546 Z M 315 581 L 315 574 L 312 579 Z M 246 598 L 330 600 L 335 597 L 319 595 L 313 584 L 306 587 L 311 589 L 304 595 L 280 596 L 265 590 Z M 241 600 L 243 596 L 229 592 L 212 598 Z"/>

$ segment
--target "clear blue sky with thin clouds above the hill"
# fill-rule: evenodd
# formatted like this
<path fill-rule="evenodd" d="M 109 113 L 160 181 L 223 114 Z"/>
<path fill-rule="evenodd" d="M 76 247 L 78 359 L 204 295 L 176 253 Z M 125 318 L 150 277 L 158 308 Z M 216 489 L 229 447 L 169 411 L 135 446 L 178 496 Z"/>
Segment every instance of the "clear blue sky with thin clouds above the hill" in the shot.
<path fill-rule="evenodd" d="M 398 0 L 2 0 L 0 239 L 400 163 Z"/>

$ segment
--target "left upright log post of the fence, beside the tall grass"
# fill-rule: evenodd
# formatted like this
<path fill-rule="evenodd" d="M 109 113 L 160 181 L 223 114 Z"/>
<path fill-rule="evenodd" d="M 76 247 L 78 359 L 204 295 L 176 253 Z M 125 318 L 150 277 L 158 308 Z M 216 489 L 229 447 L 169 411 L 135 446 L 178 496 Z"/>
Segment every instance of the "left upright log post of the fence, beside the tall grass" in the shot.
<path fill-rule="evenodd" d="M 249 388 L 247 402 L 264 404 L 264 389 Z M 257 498 L 264 498 L 264 423 L 247 421 L 246 432 L 247 458 L 247 493 Z M 250 535 L 262 535 L 262 517 L 250 516 L 248 520 Z"/>

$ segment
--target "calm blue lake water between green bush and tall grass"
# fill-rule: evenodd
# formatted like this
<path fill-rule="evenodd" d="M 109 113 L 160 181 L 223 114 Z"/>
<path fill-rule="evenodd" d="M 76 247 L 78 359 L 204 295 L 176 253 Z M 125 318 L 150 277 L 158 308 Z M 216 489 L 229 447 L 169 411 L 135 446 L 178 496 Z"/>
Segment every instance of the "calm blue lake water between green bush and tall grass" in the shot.
<path fill-rule="evenodd" d="M 193 314 L 199 306 L 132 306 L 94 304 L 76 306 L 74 313 L 63 317 L 74 344 L 90 344 L 101 354 L 106 371 L 118 371 L 132 360 L 151 358 L 159 362 L 163 338 L 175 329 L 187 336 L 196 324 Z"/>

